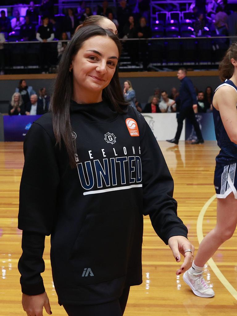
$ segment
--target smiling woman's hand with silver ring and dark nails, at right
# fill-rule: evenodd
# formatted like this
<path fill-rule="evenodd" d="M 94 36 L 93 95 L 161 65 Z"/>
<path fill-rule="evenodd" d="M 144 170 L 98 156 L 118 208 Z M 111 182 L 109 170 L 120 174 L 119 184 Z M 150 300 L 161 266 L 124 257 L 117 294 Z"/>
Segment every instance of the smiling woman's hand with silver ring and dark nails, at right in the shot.
<path fill-rule="evenodd" d="M 177 262 L 180 262 L 180 253 L 184 256 L 184 262 L 181 265 L 181 267 L 176 271 L 176 275 L 179 275 L 188 270 L 192 265 L 193 254 L 195 250 L 191 242 L 184 236 L 172 236 L 168 240 L 168 245 L 172 250 L 173 256 Z M 192 252 L 185 252 L 185 250 L 187 249 L 191 249 Z"/>

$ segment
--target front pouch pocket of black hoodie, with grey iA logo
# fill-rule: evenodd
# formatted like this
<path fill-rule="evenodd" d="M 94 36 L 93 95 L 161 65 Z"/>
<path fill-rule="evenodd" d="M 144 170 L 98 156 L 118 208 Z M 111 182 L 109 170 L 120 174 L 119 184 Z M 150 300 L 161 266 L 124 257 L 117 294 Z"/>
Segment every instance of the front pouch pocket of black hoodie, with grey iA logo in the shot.
<path fill-rule="evenodd" d="M 94 284 L 126 275 L 138 228 L 138 208 L 88 214 L 74 243 L 69 269 L 77 283 Z"/>

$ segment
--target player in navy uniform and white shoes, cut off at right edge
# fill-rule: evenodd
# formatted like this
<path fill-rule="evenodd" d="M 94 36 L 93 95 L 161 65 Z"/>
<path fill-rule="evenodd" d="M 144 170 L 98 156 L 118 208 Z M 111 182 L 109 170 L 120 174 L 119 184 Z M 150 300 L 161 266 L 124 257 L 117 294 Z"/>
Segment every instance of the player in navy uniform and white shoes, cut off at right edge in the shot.
<path fill-rule="evenodd" d="M 192 267 L 183 276 L 193 293 L 200 297 L 215 295 L 202 277 L 204 264 L 231 238 L 237 224 L 237 43 L 229 47 L 219 70 L 224 82 L 216 88 L 212 103 L 216 140 L 221 148 L 214 173 L 216 227 L 204 237 Z"/>

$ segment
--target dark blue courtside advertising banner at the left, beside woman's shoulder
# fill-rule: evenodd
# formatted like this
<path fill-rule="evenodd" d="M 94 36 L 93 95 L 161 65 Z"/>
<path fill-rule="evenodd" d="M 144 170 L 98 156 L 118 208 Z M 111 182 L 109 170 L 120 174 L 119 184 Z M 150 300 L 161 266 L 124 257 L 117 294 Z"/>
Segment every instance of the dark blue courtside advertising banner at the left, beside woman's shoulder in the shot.
<path fill-rule="evenodd" d="M 4 116 L 4 141 L 5 142 L 23 142 L 27 131 L 34 121 L 41 115 L 13 115 Z"/>

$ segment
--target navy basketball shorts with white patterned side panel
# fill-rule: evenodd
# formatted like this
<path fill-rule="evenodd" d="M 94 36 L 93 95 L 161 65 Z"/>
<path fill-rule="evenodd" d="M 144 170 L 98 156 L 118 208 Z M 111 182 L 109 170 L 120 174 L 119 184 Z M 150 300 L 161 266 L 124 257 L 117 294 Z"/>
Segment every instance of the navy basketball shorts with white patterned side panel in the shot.
<path fill-rule="evenodd" d="M 227 166 L 216 164 L 214 173 L 214 185 L 217 198 L 226 198 L 231 192 L 237 199 L 237 175 L 236 162 Z"/>

